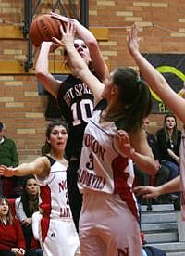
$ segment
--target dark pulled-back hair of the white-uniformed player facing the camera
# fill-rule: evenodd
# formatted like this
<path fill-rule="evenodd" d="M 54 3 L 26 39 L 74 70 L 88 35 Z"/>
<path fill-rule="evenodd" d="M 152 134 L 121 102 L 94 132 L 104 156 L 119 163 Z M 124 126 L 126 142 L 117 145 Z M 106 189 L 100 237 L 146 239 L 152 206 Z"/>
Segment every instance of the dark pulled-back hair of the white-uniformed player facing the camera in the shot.
<path fill-rule="evenodd" d="M 54 127 L 58 125 L 64 126 L 68 133 L 68 125 L 64 120 L 53 120 L 51 122 L 48 122 L 46 131 L 45 131 L 46 141 L 42 147 L 42 155 L 48 154 L 51 151 L 51 144 L 48 143 L 47 139 L 50 137 L 50 134 L 54 129 Z"/>

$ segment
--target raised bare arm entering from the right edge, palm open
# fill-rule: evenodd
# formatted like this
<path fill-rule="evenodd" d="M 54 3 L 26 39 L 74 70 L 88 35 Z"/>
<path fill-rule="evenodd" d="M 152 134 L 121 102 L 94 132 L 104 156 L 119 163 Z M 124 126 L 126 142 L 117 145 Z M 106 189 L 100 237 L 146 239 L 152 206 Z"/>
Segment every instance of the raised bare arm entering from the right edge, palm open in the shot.
<path fill-rule="evenodd" d="M 176 114 L 182 122 L 185 122 L 185 99 L 174 92 L 166 79 L 154 67 L 142 57 L 139 51 L 138 27 L 134 24 L 128 37 L 128 48 L 132 58 L 138 65 L 142 77 L 164 101 L 166 106 Z"/>

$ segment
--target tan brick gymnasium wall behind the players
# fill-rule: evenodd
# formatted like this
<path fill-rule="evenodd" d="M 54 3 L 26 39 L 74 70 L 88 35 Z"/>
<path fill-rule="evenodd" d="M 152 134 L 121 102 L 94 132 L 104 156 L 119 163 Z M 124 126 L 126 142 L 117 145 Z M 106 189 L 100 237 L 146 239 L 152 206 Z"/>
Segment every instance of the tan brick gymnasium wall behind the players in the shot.
<path fill-rule="evenodd" d="M 41 1 L 37 14 L 51 11 L 54 2 Z M 134 22 L 141 27 L 143 53 L 184 53 L 184 6 L 184 0 L 89 0 L 90 29 L 109 69 L 135 67 L 126 43 Z M 34 67 L 24 69 L 28 39 L 22 35 L 23 19 L 24 1 L 0 0 L 0 121 L 6 123 L 6 135 L 16 141 L 19 160 L 28 161 L 40 155 L 44 143 L 47 97 L 38 94 Z M 51 55 L 50 70 L 67 72 L 59 51 Z M 161 127 L 163 117 L 152 115 L 151 132 Z"/>

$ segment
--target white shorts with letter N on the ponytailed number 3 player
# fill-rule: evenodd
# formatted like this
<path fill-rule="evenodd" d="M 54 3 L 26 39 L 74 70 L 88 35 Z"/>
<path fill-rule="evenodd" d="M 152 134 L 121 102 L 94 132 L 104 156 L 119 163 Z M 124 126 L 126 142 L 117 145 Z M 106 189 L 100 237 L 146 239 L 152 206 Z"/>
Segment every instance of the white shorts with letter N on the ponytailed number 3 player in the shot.
<path fill-rule="evenodd" d="M 80 251 L 81 256 L 142 256 L 138 221 L 119 195 L 83 194 Z"/>

